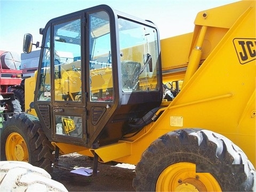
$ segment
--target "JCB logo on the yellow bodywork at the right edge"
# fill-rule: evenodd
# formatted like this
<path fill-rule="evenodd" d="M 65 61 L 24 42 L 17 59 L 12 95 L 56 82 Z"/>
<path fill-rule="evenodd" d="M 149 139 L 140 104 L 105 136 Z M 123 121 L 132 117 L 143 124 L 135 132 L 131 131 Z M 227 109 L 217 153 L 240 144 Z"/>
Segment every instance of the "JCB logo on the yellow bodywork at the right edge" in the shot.
<path fill-rule="evenodd" d="M 235 38 L 233 43 L 241 64 L 245 64 L 256 59 L 255 38 Z"/>

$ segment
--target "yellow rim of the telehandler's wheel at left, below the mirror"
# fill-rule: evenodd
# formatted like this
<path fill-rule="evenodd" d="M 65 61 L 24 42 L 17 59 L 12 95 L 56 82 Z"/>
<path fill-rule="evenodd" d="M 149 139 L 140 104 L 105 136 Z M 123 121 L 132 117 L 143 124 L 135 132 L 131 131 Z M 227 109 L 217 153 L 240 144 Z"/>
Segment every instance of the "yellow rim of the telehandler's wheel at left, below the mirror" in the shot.
<path fill-rule="evenodd" d="M 11 133 L 5 143 L 7 161 L 28 162 L 28 148 L 25 140 L 19 133 Z"/>

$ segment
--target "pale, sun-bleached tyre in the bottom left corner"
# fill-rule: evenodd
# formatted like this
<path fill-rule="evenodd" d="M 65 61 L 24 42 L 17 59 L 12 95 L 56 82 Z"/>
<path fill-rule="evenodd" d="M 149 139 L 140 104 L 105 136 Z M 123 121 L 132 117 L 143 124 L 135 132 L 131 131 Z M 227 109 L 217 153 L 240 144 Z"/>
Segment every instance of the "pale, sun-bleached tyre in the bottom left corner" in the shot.
<path fill-rule="evenodd" d="M 45 170 L 25 162 L 0 162 L 0 191 L 68 191 Z"/>

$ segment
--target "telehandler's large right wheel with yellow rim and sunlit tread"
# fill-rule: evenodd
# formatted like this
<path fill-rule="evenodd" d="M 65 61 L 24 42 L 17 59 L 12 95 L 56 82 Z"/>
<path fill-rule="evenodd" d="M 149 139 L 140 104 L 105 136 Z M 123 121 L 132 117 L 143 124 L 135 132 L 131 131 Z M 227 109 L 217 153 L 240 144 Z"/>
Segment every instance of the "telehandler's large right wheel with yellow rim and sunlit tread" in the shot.
<path fill-rule="evenodd" d="M 207 130 L 163 135 L 145 150 L 135 172 L 137 191 L 256 190 L 255 169 L 243 151 Z"/>

